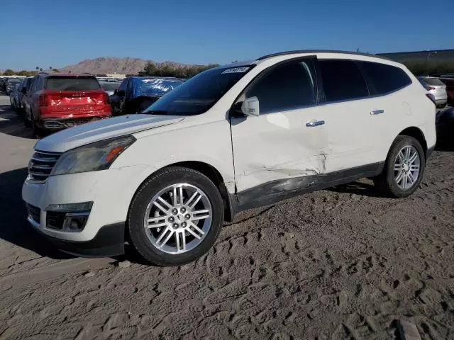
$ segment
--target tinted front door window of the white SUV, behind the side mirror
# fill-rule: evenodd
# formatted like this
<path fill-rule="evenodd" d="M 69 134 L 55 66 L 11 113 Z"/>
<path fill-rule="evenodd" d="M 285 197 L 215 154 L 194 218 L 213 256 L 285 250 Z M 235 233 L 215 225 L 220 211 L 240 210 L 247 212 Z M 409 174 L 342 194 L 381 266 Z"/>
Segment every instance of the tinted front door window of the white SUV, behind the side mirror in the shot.
<path fill-rule="evenodd" d="M 258 79 L 246 91 L 246 98 L 257 97 L 260 113 L 287 111 L 316 103 L 312 60 L 287 62 Z"/>

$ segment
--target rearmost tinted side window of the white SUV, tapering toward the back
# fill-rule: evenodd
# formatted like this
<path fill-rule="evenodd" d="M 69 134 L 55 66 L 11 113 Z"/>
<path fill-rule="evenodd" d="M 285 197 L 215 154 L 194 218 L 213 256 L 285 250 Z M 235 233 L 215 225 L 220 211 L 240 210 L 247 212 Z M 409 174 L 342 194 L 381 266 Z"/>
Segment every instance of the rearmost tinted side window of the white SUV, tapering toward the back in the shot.
<path fill-rule="evenodd" d="M 410 77 L 399 67 L 377 62 L 360 62 L 367 77 L 370 94 L 387 94 L 411 84 Z"/>

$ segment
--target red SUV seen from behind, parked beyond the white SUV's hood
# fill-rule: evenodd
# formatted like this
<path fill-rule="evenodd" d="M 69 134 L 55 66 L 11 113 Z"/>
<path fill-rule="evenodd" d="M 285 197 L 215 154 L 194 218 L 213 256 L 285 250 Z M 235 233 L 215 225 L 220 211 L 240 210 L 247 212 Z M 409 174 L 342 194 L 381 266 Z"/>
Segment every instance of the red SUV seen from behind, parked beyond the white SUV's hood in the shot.
<path fill-rule="evenodd" d="M 25 123 L 34 136 L 111 117 L 109 95 L 90 74 L 40 73 L 25 103 Z"/>

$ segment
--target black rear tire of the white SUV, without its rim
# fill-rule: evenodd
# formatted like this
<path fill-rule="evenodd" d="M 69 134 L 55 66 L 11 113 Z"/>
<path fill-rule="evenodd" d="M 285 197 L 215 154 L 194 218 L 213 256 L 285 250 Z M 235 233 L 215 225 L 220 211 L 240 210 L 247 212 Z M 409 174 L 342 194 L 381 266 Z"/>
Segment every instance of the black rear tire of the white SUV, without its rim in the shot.
<path fill-rule="evenodd" d="M 413 146 L 418 152 L 420 165 L 419 165 L 419 176 L 414 184 L 404 190 L 400 188 L 396 180 L 394 179 L 394 162 L 396 160 L 399 151 L 406 145 Z M 416 138 L 406 135 L 397 136 L 396 140 L 392 143 L 389 149 L 386 162 L 384 163 L 384 169 L 382 174 L 374 178 L 374 184 L 383 196 L 393 198 L 406 198 L 416 191 L 423 178 L 424 170 L 426 169 L 426 154 Z"/>

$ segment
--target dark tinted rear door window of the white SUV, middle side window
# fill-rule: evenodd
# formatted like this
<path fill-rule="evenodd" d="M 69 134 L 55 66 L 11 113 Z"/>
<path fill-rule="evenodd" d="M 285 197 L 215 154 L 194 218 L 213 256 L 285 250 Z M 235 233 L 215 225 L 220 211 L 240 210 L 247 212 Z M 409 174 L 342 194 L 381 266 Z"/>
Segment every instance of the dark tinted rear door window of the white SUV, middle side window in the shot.
<path fill-rule="evenodd" d="M 321 60 L 319 64 L 326 101 L 345 101 L 369 95 L 365 79 L 355 62 Z"/>

